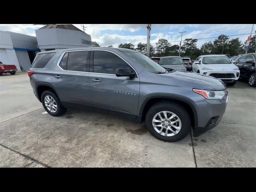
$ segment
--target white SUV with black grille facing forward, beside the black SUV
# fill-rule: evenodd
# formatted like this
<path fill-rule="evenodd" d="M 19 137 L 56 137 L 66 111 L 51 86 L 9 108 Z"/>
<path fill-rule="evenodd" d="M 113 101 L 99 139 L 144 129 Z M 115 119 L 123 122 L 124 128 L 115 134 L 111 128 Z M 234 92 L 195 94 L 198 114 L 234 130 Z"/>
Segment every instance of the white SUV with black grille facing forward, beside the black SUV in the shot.
<path fill-rule="evenodd" d="M 212 76 L 228 85 L 236 84 L 240 70 L 225 55 L 202 55 L 192 65 L 192 72 Z"/>

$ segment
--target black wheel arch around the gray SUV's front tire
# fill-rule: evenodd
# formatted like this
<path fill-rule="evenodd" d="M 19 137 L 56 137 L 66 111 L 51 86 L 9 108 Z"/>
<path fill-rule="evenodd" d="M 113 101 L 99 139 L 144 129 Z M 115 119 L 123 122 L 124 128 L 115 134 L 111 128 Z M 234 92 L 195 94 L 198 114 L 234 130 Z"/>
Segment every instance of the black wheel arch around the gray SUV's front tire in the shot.
<path fill-rule="evenodd" d="M 181 104 L 182 106 L 184 106 L 184 108 L 186 108 L 190 115 L 191 125 L 193 129 L 198 126 L 198 114 L 196 112 L 196 107 L 194 106 L 193 101 L 189 98 L 176 95 L 153 95 L 147 97 L 142 103 L 139 111 L 139 116 L 141 116 L 141 122 L 145 120 L 146 113 L 148 112 L 149 108 L 156 102 L 160 101 L 171 101 Z"/>

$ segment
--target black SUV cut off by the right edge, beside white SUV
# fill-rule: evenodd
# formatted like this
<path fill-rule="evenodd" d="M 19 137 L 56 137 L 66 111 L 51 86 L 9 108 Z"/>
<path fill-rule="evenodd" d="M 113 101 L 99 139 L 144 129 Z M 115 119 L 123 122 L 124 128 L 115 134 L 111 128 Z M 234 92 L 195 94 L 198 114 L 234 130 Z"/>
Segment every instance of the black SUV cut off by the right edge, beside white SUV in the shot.
<path fill-rule="evenodd" d="M 238 58 L 234 63 L 240 69 L 240 78 L 248 80 L 248 85 L 254 87 L 256 86 L 255 61 L 256 54 L 248 53 Z"/>

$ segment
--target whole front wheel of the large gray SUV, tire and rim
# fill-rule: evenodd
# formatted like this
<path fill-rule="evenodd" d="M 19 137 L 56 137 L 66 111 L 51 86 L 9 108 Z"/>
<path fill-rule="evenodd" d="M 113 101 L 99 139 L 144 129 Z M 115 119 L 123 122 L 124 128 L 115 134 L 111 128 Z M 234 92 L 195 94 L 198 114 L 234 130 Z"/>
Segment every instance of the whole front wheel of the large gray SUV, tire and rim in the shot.
<path fill-rule="evenodd" d="M 167 142 L 182 140 L 190 131 L 187 110 L 175 102 L 158 102 L 146 114 L 146 126 L 155 137 Z"/>

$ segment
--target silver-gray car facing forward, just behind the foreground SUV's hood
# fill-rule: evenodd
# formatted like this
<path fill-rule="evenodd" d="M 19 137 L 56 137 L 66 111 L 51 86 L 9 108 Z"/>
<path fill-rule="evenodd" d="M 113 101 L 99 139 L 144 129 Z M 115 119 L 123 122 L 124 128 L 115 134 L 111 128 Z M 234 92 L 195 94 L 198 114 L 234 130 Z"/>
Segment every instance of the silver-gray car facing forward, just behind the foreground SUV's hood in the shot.
<path fill-rule="evenodd" d="M 164 68 L 170 68 L 177 71 L 186 71 L 180 56 L 161 57 L 159 64 Z"/>

